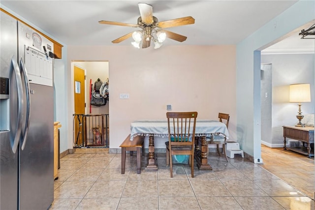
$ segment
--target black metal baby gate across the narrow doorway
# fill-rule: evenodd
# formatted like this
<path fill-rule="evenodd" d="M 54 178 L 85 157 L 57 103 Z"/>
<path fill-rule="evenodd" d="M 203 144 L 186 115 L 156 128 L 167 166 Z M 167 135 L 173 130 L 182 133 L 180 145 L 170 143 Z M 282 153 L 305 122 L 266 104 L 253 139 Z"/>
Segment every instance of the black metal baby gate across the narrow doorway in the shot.
<path fill-rule="evenodd" d="M 109 147 L 109 114 L 73 114 L 74 147 Z"/>

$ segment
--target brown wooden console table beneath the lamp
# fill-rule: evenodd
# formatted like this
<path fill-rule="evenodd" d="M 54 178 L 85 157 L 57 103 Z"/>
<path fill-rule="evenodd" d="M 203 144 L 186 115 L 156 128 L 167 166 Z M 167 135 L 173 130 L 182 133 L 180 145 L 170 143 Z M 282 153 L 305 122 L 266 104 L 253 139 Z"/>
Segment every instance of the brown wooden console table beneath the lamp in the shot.
<path fill-rule="evenodd" d="M 284 149 L 299 152 L 308 157 L 314 156 L 314 149 L 311 151 L 311 143 L 314 144 L 314 127 L 283 126 L 284 128 Z M 286 147 L 286 138 L 302 141 L 303 145 Z M 307 147 L 304 146 L 307 144 Z"/>

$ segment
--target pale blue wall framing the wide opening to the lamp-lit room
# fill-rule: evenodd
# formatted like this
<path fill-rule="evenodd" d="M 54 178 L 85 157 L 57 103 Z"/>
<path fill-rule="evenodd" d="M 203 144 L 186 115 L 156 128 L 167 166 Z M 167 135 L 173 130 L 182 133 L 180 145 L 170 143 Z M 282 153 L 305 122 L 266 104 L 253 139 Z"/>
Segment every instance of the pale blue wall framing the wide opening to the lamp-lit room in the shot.
<path fill-rule="evenodd" d="M 298 1 L 237 45 L 237 140 L 254 158 L 261 158 L 260 51 L 254 51 L 314 19 L 315 1 Z"/>

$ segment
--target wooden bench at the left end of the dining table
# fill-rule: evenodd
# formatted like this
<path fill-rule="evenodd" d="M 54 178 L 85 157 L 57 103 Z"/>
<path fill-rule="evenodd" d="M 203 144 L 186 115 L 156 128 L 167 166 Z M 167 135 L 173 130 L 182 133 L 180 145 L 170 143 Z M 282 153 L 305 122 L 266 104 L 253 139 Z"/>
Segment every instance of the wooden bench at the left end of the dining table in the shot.
<path fill-rule="evenodd" d="M 120 147 L 122 147 L 122 174 L 125 174 L 126 151 L 130 151 L 130 156 L 132 156 L 133 151 L 137 151 L 137 173 L 141 174 L 140 149 L 142 148 L 142 155 L 144 155 L 144 137 L 136 136 L 130 140 L 129 134 Z"/>

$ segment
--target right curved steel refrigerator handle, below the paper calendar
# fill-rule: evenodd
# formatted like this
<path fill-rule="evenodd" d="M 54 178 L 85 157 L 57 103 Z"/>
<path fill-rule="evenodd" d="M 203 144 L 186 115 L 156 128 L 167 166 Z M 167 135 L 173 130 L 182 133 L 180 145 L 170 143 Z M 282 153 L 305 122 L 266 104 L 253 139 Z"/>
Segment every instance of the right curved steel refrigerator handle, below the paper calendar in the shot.
<path fill-rule="evenodd" d="M 24 132 L 23 134 L 23 140 L 22 140 L 22 146 L 21 149 L 24 150 L 25 144 L 26 144 L 26 140 L 27 140 L 27 136 L 28 136 L 28 132 L 29 132 L 29 126 L 30 126 L 30 105 L 31 105 L 31 100 L 30 100 L 30 82 L 29 82 L 29 77 L 28 77 L 28 72 L 25 68 L 25 65 L 23 63 L 22 58 L 20 59 L 20 65 L 19 65 L 20 69 L 23 72 L 23 76 L 24 76 L 24 83 L 25 83 L 25 92 L 26 92 L 26 121 L 25 121 L 25 128 L 24 128 Z"/>

